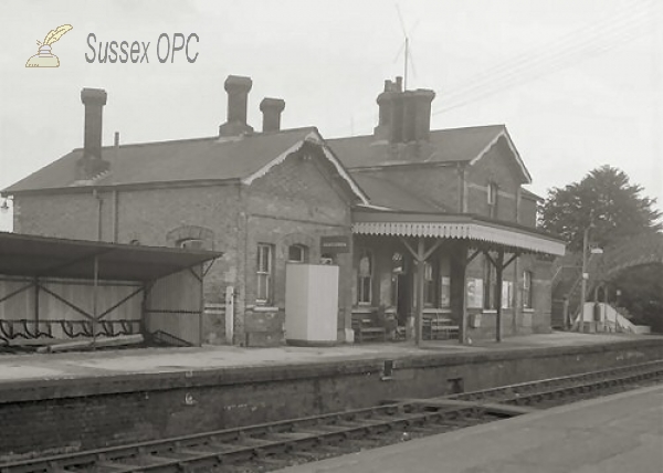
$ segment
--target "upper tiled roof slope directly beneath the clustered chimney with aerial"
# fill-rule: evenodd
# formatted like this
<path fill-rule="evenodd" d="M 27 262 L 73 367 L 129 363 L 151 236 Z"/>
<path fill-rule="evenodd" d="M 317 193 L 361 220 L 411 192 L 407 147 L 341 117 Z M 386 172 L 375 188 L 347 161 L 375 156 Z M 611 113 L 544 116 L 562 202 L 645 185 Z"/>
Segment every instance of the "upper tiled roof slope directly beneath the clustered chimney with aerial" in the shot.
<path fill-rule="evenodd" d="M 390 145 L 372 135 L 327 139 L 347 168 L 407 162 L 471 161 L 502 133 L 504 125 L 433 130 L 428 143 Z"/>

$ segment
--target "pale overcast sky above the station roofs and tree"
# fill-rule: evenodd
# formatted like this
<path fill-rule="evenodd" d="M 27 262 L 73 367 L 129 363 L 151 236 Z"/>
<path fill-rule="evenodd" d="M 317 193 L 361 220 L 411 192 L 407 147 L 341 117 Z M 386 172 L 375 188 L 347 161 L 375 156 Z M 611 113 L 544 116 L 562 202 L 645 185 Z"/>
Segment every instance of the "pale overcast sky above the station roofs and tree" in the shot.
<path fill-rule="evenodd" d="M 253 80 L 256 130 L 270 96 L 286 103 L 282 128 L 371 134 L 385 80 L 404 74 L 407 36 L 407 87 L 436 93 L 432 129 L 504 124 L 539 196 L 610 165 L 663 209 L 661 3 L 2 0 L 0 189 L 83 145 L 84 87 L 108 93 L 105 146 L 115 132 L 123 144 L 217 135 L 230 74 Z M 60 67 L 25 67 L 63 24 Z M 175 33 L 198 36 L 194 62 L 185 51 L 159 61 Z M 149 42 L 149 62 L 99 63 L 90 44 L 110 41 Z"/>

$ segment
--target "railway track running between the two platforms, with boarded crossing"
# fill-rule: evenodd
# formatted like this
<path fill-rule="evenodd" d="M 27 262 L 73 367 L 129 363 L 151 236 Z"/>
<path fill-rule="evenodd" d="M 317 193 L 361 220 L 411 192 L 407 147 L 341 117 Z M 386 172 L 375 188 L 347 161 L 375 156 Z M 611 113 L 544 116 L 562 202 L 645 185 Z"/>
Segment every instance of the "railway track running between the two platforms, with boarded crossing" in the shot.
<path fill-rule="evenodd" d="M 663 360 L 433 399 L 0 463 L 0 473 L 264 472 L 663 380 Z"/>

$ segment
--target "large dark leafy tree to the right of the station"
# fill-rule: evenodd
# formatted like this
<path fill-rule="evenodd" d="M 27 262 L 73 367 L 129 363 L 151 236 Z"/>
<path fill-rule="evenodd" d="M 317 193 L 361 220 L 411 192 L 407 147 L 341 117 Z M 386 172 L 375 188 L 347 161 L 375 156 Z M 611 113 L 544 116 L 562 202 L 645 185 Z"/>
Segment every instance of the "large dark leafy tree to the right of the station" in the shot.
<path fill-rule="evenodd" d="M 642 190 L 623 171 L 602 166 L 580 182 L 549 190 L 539 206 L 539 225 L 559 234 L 570 251 L 582 250 L 582 235 L 590 224 L 591 241 L 601 248 L 629 235 L 661 231 L 662 213 L 653 208 L 656 199 L 641 197 Z"/>

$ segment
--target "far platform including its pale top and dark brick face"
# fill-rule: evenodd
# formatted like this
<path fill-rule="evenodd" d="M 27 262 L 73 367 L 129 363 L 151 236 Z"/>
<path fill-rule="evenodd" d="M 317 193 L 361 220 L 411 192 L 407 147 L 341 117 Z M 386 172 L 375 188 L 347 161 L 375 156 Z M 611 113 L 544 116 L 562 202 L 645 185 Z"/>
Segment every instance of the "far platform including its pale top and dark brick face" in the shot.
<path fill-rule="evenodd" d="M 663 337 L 0 355 L 0 460 L 93 450 L 663 359 Z M 35 430 L 34 425 L 39 425 Z"/>

